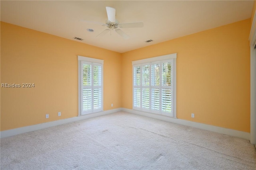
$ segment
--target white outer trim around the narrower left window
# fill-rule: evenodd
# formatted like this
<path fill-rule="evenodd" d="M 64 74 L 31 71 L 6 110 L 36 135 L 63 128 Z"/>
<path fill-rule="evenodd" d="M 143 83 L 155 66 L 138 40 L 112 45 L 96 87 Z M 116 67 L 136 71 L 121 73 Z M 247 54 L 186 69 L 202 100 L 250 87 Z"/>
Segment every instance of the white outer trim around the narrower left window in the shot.
<path fill-rule="evenodd" d="M 82 114 L 82 104 L 81 104 L 81 95 L 82 95 L 82 86 L 81 86 L 81 64 L 82 62 L 87 62 L 87 63 L 95 63 L 95 64 L 101 64 L 102 66 L 102 109 L 100 111 L 103 111 L 103 64 L 104 64 L 104 60 L 100 60 L 100 59 L 94 59 L 94 58 L 90 58 L 90 57 L 83 57 L 83 56 L 79 56 L 78 55 L 78 116 L 81 115 L 87 115 L 87 114 L 91 114 L 91 113 L 87 113 L 87 114 Z M 93 106 L 92 106 L 93 107 Z M 98 110 L 92 113 L 97 113 L 99 112 Z"/>

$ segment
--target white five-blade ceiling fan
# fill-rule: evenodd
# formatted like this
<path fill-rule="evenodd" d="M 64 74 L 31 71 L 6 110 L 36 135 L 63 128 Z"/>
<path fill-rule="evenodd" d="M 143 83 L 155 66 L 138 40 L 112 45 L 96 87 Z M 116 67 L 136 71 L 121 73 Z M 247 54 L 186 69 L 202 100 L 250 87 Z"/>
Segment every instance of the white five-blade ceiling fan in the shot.
<path fill-rule="evenodd" d="M 129 37 L 129 35 L 127 35 L 124 31 L 122 31 L 119 28 L 143 27 L 143 22 L 119 23 L 119 21 L 116 20 L 116 9 L 115 8 L 106 6 L 106 11 L 107 11 L 107 15 L 108 15 L 108 20 L 106 20 L 106 23 L 98 23 L 98 22 L 86 21 L 86 20 L 79 20 L 79 21 L 97 23 L 102 26 L 108 27 L 99 35 L 105 35 L 109 31 L 110 31 L 110 35 L 111 35 L 111 31 L 115 31 L 124 39 L 129 39 L 130 37 Z M 99 35 L 97 35 L 96 37 L 98 37 Z"/>

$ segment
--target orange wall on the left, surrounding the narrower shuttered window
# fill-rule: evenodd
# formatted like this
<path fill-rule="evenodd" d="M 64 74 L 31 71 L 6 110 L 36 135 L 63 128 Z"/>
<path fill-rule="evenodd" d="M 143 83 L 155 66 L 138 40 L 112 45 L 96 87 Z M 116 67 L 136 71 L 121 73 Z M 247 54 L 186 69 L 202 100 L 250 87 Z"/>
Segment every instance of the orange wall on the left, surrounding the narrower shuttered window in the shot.
<path fill-rule="evenodd" d="M 121 107 L 120 53 L 1 22 L 1 83 L 35 84 L 1 88 L 1 131 L 77 116 L 77 55 L 104 60 L 104 110 Z"/>

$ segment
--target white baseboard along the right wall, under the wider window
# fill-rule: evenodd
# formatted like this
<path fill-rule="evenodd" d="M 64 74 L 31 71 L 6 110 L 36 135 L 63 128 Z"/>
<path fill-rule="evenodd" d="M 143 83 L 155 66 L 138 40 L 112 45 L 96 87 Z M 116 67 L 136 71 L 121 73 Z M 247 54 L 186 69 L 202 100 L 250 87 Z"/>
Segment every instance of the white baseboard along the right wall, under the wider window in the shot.
<path fill-rule="evenodd" d="M 126 109 L 126 108 L 122 108 L 122 111 L 126 111 L 128 113 L 134 113 L 134 114 L 137 114 L 137 115 L 152 117 L 152 118 L 155 118 L 155 119 L 169 121 L 169 122 L 177 123 L 177 124 L 180 124 L 180 125 L 196 127 L 198 129 L 204 129 L 204 130 L 208 130 L 208 131 L 213 131 L 213 132 L 222 133 L 222 134 L 225 134 L 225 135 L 230 135 L 230 136 L 240 137 L 240 138 L 243 138 L 243 139 L 250 140 L 250 133 L 248 133 L 248 132 L 236 131 L 236 130 L 233 130 L 233 129 L 227 129 L 227 128 L 217 127 L 217 126 L 213 126 L 213 125 L 206 125 L 206 124 L 203 124 L 203 123 L 197 123 L 197 122 L 193 122 L 193 121 L 187 121 L 187 120 L 183 120 L 183 119 L 177 119 L 177 118 L 157 115 L 157 114 L 153 114 L 153 113 L 146 113 L 146 112 L 143 112 L 143 111 L 137 111 L 137 110 Z"/>

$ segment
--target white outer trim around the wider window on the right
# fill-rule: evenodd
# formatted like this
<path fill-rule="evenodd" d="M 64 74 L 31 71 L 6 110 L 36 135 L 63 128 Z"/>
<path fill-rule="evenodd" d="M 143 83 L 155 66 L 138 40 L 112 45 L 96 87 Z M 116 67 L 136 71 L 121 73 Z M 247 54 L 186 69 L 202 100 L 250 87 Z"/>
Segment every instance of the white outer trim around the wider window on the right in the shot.
<path fill-rule="evenodd" d="M 173 53 L 173 54 L 162 55 L 162 56 L 158 56 L 158 57 L 152 57 L 152 58 L 148 58 L 148 59 L 132 61 L 132 109 L 176 118 L 176 58 L 177 58 L 177 53 Z M 172 98 L 173 110 L 172 110 L 172 116 L 162 113 L 162 110 L 160 111 L 160 113 L 156 113 L 156 112 L 152 111 L 151 108 L 150 109 L 142 108 L 142 96 L 141 96 L 141 99 L 140 99 L 140 107 L 134 107 L 134 67 L 150 64 L 150 75 L 151 75 L 151 64 L 152 63 L 155 63 L 155 62 L 162 63 L 162 62 L 170 61 L 170 60 L 172 60 L 172 63 L 173 63 L 173 68 L 172 68 L 173 69 L 173 98 Z M 142 68 L 140 68 L 140 69 L 142 71 Z M 142 74 L 142 72 L 140 74 Z M 140 82 L 142 83 L 141 79 L 142 79 L 142 76 L 140 76 Z M 140 86 L 141 86 L 141 91 L 142 91 L 142 87 L 143 87 L 142 84 L 140 84 Z M 151 85 L 151 76 L 150 76 L 150 91 L 151 91 L 151 89 L 152 89 L 152 85 Z M 151 95 L 150 95 L 150 101 L 151 101 Z"/>

